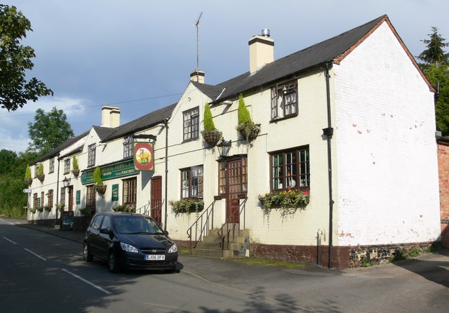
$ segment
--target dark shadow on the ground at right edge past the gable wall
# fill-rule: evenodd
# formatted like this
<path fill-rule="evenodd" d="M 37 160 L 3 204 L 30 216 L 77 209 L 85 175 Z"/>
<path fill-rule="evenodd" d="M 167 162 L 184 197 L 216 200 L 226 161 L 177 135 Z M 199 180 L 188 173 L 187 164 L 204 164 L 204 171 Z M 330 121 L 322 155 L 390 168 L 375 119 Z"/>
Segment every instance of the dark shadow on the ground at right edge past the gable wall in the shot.
<path fill-rule="evenodd" d="M 443 249 L 434 255 L 445 255 L 449 257 L 449 251 Z M 435 261 L 435 260 L 421 260 L 421 259 L 406 259 L 398 262 L 393 262 L 394 265 L 407 269 L 410 272 L 418 274 L 429 281 L 436 284 L 443 285 L 449 288 L 449 260 Z"/>

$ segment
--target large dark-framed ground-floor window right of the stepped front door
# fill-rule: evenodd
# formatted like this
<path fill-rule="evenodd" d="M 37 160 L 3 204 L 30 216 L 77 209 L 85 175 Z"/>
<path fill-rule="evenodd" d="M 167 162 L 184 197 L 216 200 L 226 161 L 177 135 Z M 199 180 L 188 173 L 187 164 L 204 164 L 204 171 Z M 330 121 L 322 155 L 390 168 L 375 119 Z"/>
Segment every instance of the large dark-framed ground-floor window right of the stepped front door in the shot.
<path fill-rule="evenodd" d="M 271 189 L 310 188 L 309 147 L 300 147 L 270 154 Z"/>

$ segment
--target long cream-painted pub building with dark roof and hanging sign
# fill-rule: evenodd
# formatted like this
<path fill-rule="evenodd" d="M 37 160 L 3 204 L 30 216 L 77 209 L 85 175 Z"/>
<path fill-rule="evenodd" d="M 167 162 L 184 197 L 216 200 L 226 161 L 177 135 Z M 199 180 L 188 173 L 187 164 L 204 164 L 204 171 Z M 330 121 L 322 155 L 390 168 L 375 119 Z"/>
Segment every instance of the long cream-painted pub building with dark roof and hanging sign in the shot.
<path fill-rule="evenodd" d="M 100 126 L 37 160 L 29 222 L 82 228 L 126 204 L 192 253 L 215 238 L 222 255 L 339 268 L 438 241 L 435 91 L 389 18 L 278 60 L 266 30 L 248 44 L 249 72 L 208 85 L 197 69 L 177 103 L 123 125 L 103 107 Z M 240 95 L 259 126 L 249 138 L 236 131 Z M 206 103 L 217 145 L 202 135 Z M 154 144 L 154 171 L 135 170 L 134 142 Z M 297 194 L 306 201 L 282 204 Z"/>

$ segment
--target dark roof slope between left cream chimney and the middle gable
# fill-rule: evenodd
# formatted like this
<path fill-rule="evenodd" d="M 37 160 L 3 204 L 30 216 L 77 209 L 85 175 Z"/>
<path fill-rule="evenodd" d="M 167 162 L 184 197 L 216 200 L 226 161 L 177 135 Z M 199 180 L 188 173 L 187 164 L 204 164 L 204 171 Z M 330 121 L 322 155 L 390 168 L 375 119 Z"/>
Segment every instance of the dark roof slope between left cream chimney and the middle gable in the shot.
<path fill-rule="evenodd" d="M 168 107 L 163 107 L 162 109 L 157 109 L 156 111 L 150 112 L 144 116 L 123 124 L 117 128 L 113 128 L 113 132 L 107 135 L 105 138 L 101 138 L 103 142 L 113 140 L 115 138 L 120 138 L 128 134 L 135 133 L 136 131 L 142 131 L 145 128 L 149 128 L 156 124 L 163 122 L 164 119 L 169 119 L 173 109 L 175 109 L 176 103 L 169 105 Z"/>

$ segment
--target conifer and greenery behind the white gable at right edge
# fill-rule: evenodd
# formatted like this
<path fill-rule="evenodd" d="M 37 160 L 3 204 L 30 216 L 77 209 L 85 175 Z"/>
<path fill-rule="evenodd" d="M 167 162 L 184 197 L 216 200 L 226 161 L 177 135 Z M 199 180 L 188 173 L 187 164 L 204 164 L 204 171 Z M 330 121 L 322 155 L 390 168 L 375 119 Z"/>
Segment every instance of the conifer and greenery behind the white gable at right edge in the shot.
<path fill-rule="evenodd" d="M 449 135 L 449 53 L 444 48 L 449 46 L 445 39 L 438 34 L 437 27 L 431 27 L 432 33 L 429 39 L 422 42 L 427 44 L 427 49 L 417 56 L 424 61 L 420 67 L 427 79 L 436 88 L 435 117 L 436 129 L 443 135 Z"/>

